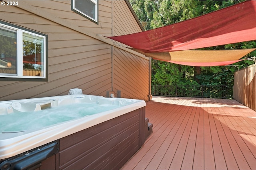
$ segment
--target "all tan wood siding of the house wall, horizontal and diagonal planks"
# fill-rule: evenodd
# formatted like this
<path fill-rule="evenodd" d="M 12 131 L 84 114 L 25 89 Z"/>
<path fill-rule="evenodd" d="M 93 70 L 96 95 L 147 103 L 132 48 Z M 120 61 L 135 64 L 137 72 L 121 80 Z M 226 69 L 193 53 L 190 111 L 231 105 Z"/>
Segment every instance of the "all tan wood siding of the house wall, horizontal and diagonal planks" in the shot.
<path fill-rule="evenodd" d="M 0 100 L 67 95 L 71 88 L 98 96 L 122 90 L 122 97 L 147 100 L 149 60 L 98 36 L 139 32 L 140 27 L 124 1 L 98 3 L 98 24 L 73 12 L 71 1 L 0 6 L 0 20 L 48 35 L 48 82 L 0 81 Z"/>

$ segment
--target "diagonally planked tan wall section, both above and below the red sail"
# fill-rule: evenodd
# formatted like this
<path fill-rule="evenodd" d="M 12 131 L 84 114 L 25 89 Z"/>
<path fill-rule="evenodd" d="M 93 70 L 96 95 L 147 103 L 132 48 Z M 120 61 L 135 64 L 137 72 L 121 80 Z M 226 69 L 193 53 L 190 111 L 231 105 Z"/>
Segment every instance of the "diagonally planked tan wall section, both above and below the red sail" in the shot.
<path fill-rule="evenodd" d="M 113 1 L 113 6 L 113 36 L 141 31 L 125 1 Z M 126 47 L 123 44 L 122 46 Z M 146 57 L 137 57 L 114 47 L 114 91 L 120 90 L 122 98 L 148 100 L 149 83 L 151 83 L 149 62 Z"/>

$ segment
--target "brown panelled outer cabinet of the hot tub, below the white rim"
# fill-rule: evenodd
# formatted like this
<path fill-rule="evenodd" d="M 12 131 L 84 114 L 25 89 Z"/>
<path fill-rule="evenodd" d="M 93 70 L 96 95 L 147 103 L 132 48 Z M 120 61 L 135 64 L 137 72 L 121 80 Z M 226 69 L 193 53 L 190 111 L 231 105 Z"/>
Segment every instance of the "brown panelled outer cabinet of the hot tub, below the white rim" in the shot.
<path fill-rule="evenodd" d="M 152 133 L 145 107 L 78 131 L 12 158 L 0 170 L 120 169 Z"/>

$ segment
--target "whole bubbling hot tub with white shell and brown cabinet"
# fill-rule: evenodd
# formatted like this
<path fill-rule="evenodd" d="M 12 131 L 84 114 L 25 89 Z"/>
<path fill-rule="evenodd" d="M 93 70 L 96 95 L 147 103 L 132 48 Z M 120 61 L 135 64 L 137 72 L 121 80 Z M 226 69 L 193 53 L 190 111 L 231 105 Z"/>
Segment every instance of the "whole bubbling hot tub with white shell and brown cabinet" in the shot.
<path fill-rule="evenodd" d="M 120 168 L 144 143 L 145 106 L 92 95 L 0 102 L 0 169 Z"/>

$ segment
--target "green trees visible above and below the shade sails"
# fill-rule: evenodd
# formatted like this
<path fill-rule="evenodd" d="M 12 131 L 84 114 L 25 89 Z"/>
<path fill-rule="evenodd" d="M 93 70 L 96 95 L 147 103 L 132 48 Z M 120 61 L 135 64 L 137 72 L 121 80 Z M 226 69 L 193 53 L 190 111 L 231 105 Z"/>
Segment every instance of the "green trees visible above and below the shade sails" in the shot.
<path fill-rule="evenodd" d="M 130 3 L 145 30 L 188 20 L 239 2 L 242 2 L 242 0 L 130 0 Z M 256 41 L 220 45 L 203 49 L 220 50 L 251 48 L 256 48 Z M 256 51 L 249 53 L 243 57 L 243 59 L 253 56 L 256 56 Z M 237 69 L 251 64 L 254 64 L 254 61 L 240 61 L 234 64 L 236 67 L 201 67 L 201 74 L 195 76 L 200 82 L 200 84 L 198 84 L 194 80 L 193 67 L 152 60 L 152 86 L 177 85 L 185 88 L 185 86 L 188 85 L 225 85 L 233 90 L 234 72 Z"/>

